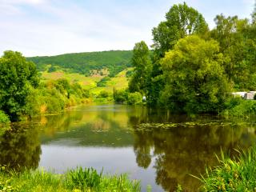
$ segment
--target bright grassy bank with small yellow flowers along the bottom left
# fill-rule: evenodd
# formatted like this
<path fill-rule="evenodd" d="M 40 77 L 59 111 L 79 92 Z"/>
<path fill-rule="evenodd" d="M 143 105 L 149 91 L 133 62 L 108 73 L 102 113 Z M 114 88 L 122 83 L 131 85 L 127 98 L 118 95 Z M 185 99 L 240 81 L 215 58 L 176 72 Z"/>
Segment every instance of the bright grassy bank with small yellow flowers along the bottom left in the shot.
<path fill-rule="evenodd" d="M 140 191 L 138 181 L 125 174 L 103 176 L 96 170 L 70 170 L 66 174 L 51 174 L 44 170 L 25 170 L 22 173 L 0 171 L 0 191 Z"/>

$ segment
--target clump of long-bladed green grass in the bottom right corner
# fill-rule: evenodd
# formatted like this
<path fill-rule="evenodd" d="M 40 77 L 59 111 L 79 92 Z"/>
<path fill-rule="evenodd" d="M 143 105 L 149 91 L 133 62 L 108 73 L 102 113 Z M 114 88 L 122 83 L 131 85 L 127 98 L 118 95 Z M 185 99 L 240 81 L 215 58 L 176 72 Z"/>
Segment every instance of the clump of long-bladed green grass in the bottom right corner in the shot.
<path fill-rule="evenodd" d="M 241 150 L 238 158 L 218 158 L 221 166 L 207 170 L 201 178 L 202 191 L 254 191 L 256 187 L 256 148 Z"/>

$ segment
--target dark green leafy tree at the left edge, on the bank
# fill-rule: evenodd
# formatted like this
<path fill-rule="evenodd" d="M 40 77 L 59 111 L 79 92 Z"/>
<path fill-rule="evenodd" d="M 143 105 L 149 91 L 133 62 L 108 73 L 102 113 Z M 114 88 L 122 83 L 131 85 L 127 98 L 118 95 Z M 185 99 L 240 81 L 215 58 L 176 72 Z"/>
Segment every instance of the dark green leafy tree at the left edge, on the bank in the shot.
<path fill-rule="evenodd" d="M 30 90 L 38 86 L 38 72 L 33 62 L 27 62 L 21 53 L 5 51 L 0 58 L 0 109 L 18 120 L 26 106 Z"/>

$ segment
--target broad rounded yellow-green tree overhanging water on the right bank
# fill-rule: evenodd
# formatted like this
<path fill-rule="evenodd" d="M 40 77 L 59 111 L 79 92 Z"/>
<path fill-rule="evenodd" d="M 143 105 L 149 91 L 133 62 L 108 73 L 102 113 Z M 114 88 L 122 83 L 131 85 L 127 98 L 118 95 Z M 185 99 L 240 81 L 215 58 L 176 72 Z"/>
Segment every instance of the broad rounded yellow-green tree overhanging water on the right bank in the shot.
<path fill-rule="evenodd" d="M 218 42 L 195 35 L 179 40 L 161 61 L 166 80 L 162 105 L 175 113 L 222 110 L 230 95 L 222 62 Z"/>

